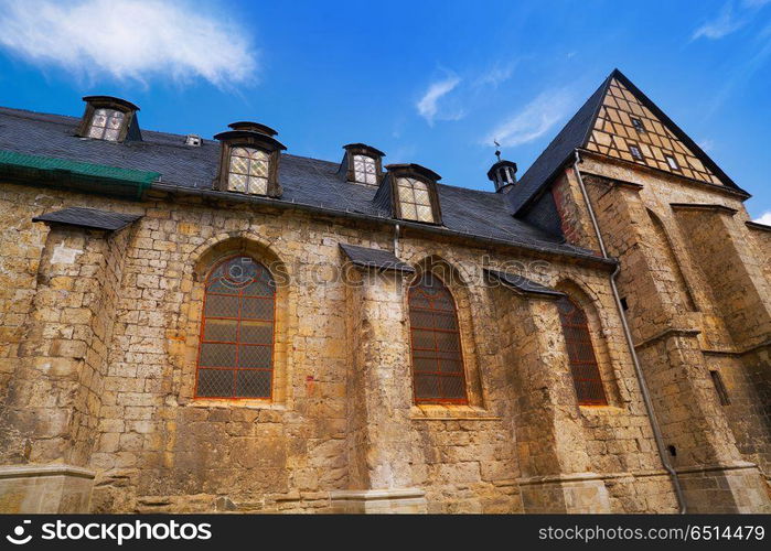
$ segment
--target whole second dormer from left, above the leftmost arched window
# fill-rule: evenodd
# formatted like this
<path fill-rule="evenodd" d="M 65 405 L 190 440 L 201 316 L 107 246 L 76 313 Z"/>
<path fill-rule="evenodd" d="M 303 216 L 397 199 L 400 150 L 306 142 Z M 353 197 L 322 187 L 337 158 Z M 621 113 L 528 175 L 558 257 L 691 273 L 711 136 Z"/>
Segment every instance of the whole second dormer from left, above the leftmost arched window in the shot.
<path fill-rule="evenodd" d="M 221 191 L 278 197 L 278 164 L 285 148 L 274 136 L 276 130 L 257 122 L 234 122 L 233 129 L 214 138 L 222 142 L 219 175 L 215 187 Z"/>

